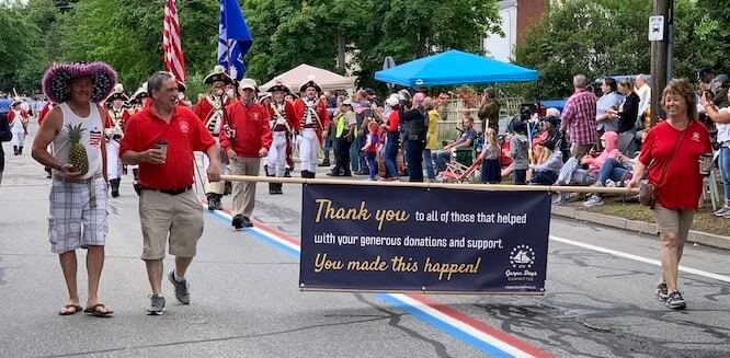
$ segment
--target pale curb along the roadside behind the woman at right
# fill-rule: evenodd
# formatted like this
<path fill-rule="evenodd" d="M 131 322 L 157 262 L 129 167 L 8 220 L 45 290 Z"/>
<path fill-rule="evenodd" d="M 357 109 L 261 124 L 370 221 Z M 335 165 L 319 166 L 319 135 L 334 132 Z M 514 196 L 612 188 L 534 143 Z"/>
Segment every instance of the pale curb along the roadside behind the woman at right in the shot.
<path fill-rule="evenodd" d="M 659 236 L 659 233 L 657 232 L 657 224 L 654 223 L 628 220 L 624 218 L 612 217 L 608 215 L 575 210 L 573 208 L 566 208 L 560 206 L 552 206 L 551 212 L 552 215 L 563 218 L 600 223 L 602 226 L 611 228 L 634 231 L 640 234 L 642 233 L 642 234 L 650 234 L 652 236 Z M 730 250 L 729 236 L 721 236 L 707 232 L 689 230 L 689 235 L 687 238 L 687 241 L 705 246 Z"/>

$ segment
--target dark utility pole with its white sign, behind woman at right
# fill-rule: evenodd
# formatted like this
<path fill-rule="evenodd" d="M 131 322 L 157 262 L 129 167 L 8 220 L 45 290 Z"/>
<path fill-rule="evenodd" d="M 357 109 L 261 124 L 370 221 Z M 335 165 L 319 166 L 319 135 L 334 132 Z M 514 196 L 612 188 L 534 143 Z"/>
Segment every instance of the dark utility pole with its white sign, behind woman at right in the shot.
<path fill-rule="evenodd" d="M 651 41 L 651 125 L 664 117 L 662 91 L 670 80 L 668 66 L 672 44 L 674 1 L 654 0 L 652 16 L 649 20 L 649 39 Z M 659 19 L 658 16 L 662 16 Z"/>

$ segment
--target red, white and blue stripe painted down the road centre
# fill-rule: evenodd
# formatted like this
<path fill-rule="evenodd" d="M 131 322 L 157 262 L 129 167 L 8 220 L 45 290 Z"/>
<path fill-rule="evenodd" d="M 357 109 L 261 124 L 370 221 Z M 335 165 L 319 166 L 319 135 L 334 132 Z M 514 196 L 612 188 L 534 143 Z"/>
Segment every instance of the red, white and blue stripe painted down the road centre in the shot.
<path fill-rule="evenodd" d="M 203 201 L 202 201 L 203 204 Z M 204 206 L 207 210 L 207 206 Z M 230 223 L 229 210 L 206 211 L 224 222 Z M 267 228 L 261 221 L 253 221 L 253 228 L 243 229 L 248 234 L 272 244 L 287 254 L 299 257 L 299 242 L 276 229 Z M 471 345 L 492 357 L 552 357 L 529 344 L 477 321 L 468 315 L 436 303 L 418 293 L 377 293 L 380 300 L 399 307 L 441 331 Z"/>

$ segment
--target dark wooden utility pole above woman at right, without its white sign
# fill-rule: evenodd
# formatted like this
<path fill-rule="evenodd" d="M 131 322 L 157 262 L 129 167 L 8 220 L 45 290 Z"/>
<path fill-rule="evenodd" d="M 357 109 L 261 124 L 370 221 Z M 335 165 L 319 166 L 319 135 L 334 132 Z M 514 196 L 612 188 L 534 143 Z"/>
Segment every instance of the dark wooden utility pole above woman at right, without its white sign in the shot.
<path fill-rule="evenodd" d="M 662 91 L 668 82 L 666 54 L 671 43 L 671 33 L 669 32 L 669 22 L 671 21 L 671 0 L 654 0 L 652 15 L 664 16 L 664 39 L 651 42 L 651 125 L 655 125 L 660 118 L 664 117 L 664 109 L 661 105 Z"/>

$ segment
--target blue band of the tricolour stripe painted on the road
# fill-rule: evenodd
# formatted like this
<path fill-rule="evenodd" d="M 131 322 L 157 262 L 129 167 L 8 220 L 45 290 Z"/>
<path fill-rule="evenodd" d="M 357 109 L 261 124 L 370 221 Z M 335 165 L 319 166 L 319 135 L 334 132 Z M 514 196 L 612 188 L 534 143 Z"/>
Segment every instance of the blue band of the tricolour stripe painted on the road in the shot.
<path fill-rule="evenodd" d="M 213 216 L 214 218 L 220 220 L 221 222 L 230 224 L 230 219 L 227 218 L 220 211 L 217 211 L 217 210 L 216 211 L 207 211 L 206 210 L 205 212 Z M 259 240 L 262 240 L 265 243 L 271 244 L 272 246 L 283 251 L 286 254 L 289 254 L 289 255 L 292 255 L 296 258 L 299 258 L 299 251 L 296 251 L 296 250 L 294 250 L 294 249 L 292 249 L 292 247 L 289 247 L 285 244 L 282 244 L 278 241 L 271 239 L 270 236 L 267 236 L 264 233 L 261 233 L 261 232 L 255 231 L 255 230 L 250 230 L 250 229 L 243 229 L 242 231 L 244 233 L 249 234 L 249 235 L 252 235 L 252 236 L 254 236 Z M 492 346 L 492 345 L 490 345 L 490 344 L 488 344 L 488 343 L 486 343 L 481 339 L 478 339 L 475 336 L 472 336 L 472 335 L 470 335 L 470 334 L 468 334 L 468 333 L 448 324 L 447 322 L 441 321 L 441 320 L 427 314 L 426 312 L 421 311 L 420 309 L 418 309 L 414 305 L 411 305 L 408 302 L 403 302 L 403 301 L 397 299 L 392 295 L 376 293 L 375 297 L 378 298 L 379 300 L 392 305 L 392 307 L 399 308 L 399 309 L 412 314 L 417 319 L 419 319 L 419 320 L 421 320 L 421 321 L 423 321 L 427 324 L 431 324 L 432 326 L 441 330 L 442 332 L 444 332 L 444 333 L 446 333 L 450 336 L 454 336 L 454 337 L 460 339 L 461 342 L 464 342 L 464 343 L 466 343 L 470 346 L 476 347 L 477 349 L 481 350 L 482 353 L 484 353 L 489 357 L 499 357 L 499 358 L 514 357 L 514 356 L 507 354 L 506 351 L 504 351 L 504 350 L 502 350 L 498 347 L 494 347 L 494 346 Z"/>

